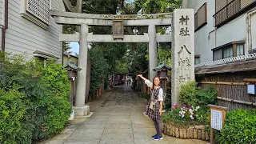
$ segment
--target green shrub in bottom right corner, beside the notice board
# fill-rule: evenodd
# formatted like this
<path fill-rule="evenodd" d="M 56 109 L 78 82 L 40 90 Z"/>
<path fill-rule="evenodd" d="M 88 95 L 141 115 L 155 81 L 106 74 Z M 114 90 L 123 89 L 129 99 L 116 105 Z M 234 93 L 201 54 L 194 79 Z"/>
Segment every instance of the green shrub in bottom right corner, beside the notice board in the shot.
<path fill-rule="evenodd" d="M 256 110 L 232 110 L 226 120 L 218 141 L 227 143 L 256 143 Z"/>

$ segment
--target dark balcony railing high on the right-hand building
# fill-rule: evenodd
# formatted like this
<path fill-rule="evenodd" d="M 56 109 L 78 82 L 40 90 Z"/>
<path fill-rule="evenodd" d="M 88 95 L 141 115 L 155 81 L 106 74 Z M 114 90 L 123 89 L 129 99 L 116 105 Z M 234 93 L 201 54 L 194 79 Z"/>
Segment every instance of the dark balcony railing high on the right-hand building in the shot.
<path fill-rule="evenodd" d="M 240 14 L 243 14 L 254 6 L 256 6 L 256 0 L 233 0 L 229 2 L 214 14 L 215 27 L 220 27 L 226 22 L 230 22 L 232 19 L 237 18 Z"/>

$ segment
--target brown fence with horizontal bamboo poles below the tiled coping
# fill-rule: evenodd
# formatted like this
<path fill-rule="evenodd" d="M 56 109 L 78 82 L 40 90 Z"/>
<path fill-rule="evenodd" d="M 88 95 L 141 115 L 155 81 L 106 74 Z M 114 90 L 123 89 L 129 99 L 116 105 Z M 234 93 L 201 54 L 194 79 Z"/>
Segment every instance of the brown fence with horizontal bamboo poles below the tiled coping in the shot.
<path fill-rule="evenodd" d="M 197 74 L 196 81 L 202 88 L 214 86 L 218 91 L 218 106 L 229 110 L 255 109 L 256 95 L 247 94 L 247 85 L 256 84 L 256 70 L 222 74 Z"/>

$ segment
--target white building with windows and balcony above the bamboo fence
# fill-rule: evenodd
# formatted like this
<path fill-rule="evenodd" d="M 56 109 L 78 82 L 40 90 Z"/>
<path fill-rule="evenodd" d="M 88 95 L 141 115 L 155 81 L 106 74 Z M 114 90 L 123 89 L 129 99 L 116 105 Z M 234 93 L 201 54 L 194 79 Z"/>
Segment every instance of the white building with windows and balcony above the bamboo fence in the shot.
<path fill-rule="evenodd" d="M 194 9 L 195 64 L 256 52 L 255 0 L 182 0 Z"/>

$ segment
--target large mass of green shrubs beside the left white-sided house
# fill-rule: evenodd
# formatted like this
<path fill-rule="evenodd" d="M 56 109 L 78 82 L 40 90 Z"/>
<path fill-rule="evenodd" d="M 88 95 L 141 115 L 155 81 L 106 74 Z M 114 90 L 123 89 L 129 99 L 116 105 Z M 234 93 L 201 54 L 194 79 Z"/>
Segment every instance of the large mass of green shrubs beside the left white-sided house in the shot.
<path fill-rule="evenodd" d="M 54 63 L 53 60 L 46 61 L 44 67 L 37 59 L 28 62 L 24 59 L 25 56 L 22 54 L 12 57 L 6 54 L 5 60 L 0 62 L 2 64 L 0 66 L 1 102 L 6 107 L 12 107 L 12 103 L 8 103 L 7 100 L 8 94 L 13 93 L 17 101 L 15 104 L 22 106 L 21 118 L 17 119 L 21 131 L 13 130 L 11 133 L 5 133 L 2 142 L 31 143 L 38 139 L 50 138 L 64 128 L 70 117 L 71 105 L 68 101 L 70 82 L 66 70 L 62 70 L 62 66 Z M 0 119 L 2 117 L 3 115 Z M 0 123 L 0 127 L 6 125 L 8 125 L 6 121 Z M 16 137 L 19 134 L 22 136 Z M 26 138 L 26 141 L 21 142 L 21 138 Z"/>

